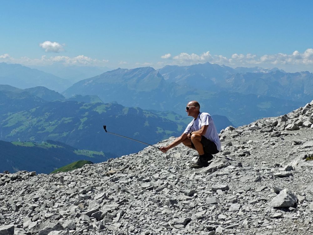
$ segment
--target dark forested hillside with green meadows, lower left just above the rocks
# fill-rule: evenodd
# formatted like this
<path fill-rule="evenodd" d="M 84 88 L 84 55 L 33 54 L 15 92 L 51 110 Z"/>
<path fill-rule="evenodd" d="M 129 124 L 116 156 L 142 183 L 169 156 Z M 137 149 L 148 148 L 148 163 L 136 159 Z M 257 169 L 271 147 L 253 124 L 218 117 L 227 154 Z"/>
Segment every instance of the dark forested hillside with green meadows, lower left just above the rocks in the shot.
<path fill-rule="evenodd" d="M 103 152 L 76 149 L 67 144 L 47 140 L 45 142 L 6 142 L 0 140 L 0 172 L 8 170 L 36 171 L 49 174 L 64 165 L 77 161 L 103 162 L 108 159 Z M 75 165 L 77 167 L 81 165 Z M 81 166 L 80 166 L 81 167 Z"/>

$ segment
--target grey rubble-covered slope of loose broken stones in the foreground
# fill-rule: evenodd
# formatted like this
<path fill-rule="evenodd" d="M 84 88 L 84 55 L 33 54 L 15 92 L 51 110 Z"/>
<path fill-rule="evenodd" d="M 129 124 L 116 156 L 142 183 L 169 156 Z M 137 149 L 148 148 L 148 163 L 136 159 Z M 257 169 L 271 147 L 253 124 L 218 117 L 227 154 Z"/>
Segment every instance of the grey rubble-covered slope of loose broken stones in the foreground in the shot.
<path fill-rule="evenodd" d="M 0 174 L 2 234 L 313 234 L 313 102 L 196 151 L 137 154 L 51 175 Z M 174 138 L 162 141 L 164 146 Z"/>

